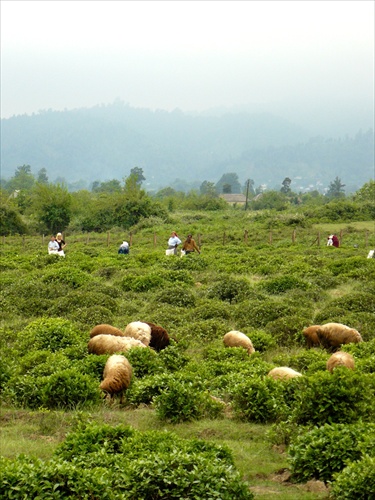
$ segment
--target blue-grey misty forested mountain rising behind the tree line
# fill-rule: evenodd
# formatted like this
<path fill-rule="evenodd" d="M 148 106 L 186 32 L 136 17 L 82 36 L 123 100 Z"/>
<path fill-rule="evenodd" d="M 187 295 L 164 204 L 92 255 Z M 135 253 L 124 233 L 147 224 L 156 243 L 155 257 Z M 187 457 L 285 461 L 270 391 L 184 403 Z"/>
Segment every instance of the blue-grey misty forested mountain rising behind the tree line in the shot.
<path fill-rule="evenodd" d="M 312 137 L 270 113 L 190 115 L 132 108 L 122 101 L 70 111 L 43 111 L 1 120 L 1 175 L 24 164 L 51 181 L 123 179 L 141 167 L 147 189 L 217 182 L 235 172 L 241 182 L 292 188 L 327 186 L 336 176 L 360 187 L 374 177 L 373 132 L 353 138 Z"/>

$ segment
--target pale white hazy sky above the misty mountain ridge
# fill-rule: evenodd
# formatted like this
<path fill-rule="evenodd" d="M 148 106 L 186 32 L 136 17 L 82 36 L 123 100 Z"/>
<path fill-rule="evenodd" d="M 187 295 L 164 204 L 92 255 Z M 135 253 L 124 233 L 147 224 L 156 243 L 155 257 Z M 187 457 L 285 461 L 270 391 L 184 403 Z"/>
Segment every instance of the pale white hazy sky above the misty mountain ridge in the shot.
<path fill-rule="evenodd" d="M 120 99 L 371 127 L 374 3 L 1 0 L 1 117 Z"/>

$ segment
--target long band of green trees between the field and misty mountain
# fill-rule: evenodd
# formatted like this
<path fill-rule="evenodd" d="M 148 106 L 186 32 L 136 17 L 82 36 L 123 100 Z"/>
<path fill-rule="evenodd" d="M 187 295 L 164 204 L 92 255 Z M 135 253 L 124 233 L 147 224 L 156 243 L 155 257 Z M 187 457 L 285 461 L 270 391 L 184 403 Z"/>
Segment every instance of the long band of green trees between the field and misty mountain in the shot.
<path fill-rule="evenodd" d="M 249 203 L 231 209 L 293 210 L 310 219 L 370 220 L 375 218 L 375 182 L 370 180 L 354 194 L 345 195 L 339 177 L 326 194 L 318 191 L 296 193 L 285 177 L 278 190 L 254 188 L 248 179 L 241 186 L 235 173 L 223 174 L 218 183 L 203 181 L 188 193 L 171 187 L 148 193 L 142 168 L 134 167 L 122 181 L 94 182 L 91 190 L 70 192 L 63 183 L 51 183 L 46 169 L 31 172 L 30 165 L 17 167 L 15 174 L 1 184 L 0 234 L 45 234 L 64 231 L 103 232 L 112 228 L 128 230 L 142 219 L 155 217 L 167 221 L 177 209 L 210 211 L 228 209 L 222 193 L 246 192 Z"/>

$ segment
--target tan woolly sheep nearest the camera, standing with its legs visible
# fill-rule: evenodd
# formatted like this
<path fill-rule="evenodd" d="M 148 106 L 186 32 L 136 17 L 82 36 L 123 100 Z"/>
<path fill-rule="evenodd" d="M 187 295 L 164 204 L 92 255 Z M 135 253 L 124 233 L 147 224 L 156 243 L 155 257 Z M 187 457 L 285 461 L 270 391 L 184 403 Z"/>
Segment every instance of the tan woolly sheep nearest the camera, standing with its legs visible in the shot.
<path fill-rule="evenodd" d="M 121 394 L 122 402 L 123 392 L 130 385 L 132 371 L 132 366 L 125 356 L 113 354 L 105 364 L 100 389 L 108 394 L 110 399 L 115 394 Z"/>

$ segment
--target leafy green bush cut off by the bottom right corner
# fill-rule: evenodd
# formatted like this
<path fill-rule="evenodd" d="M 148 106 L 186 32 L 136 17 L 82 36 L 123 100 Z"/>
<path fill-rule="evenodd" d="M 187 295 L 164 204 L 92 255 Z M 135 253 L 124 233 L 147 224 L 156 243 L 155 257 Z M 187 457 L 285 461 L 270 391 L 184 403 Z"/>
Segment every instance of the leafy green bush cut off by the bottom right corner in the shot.
<path fill-rule="evenodd" d="M 330 493 L 337 500 L 369 500 L 375 491 L 375 457 L 365 455 L 334 475 Z"/>

